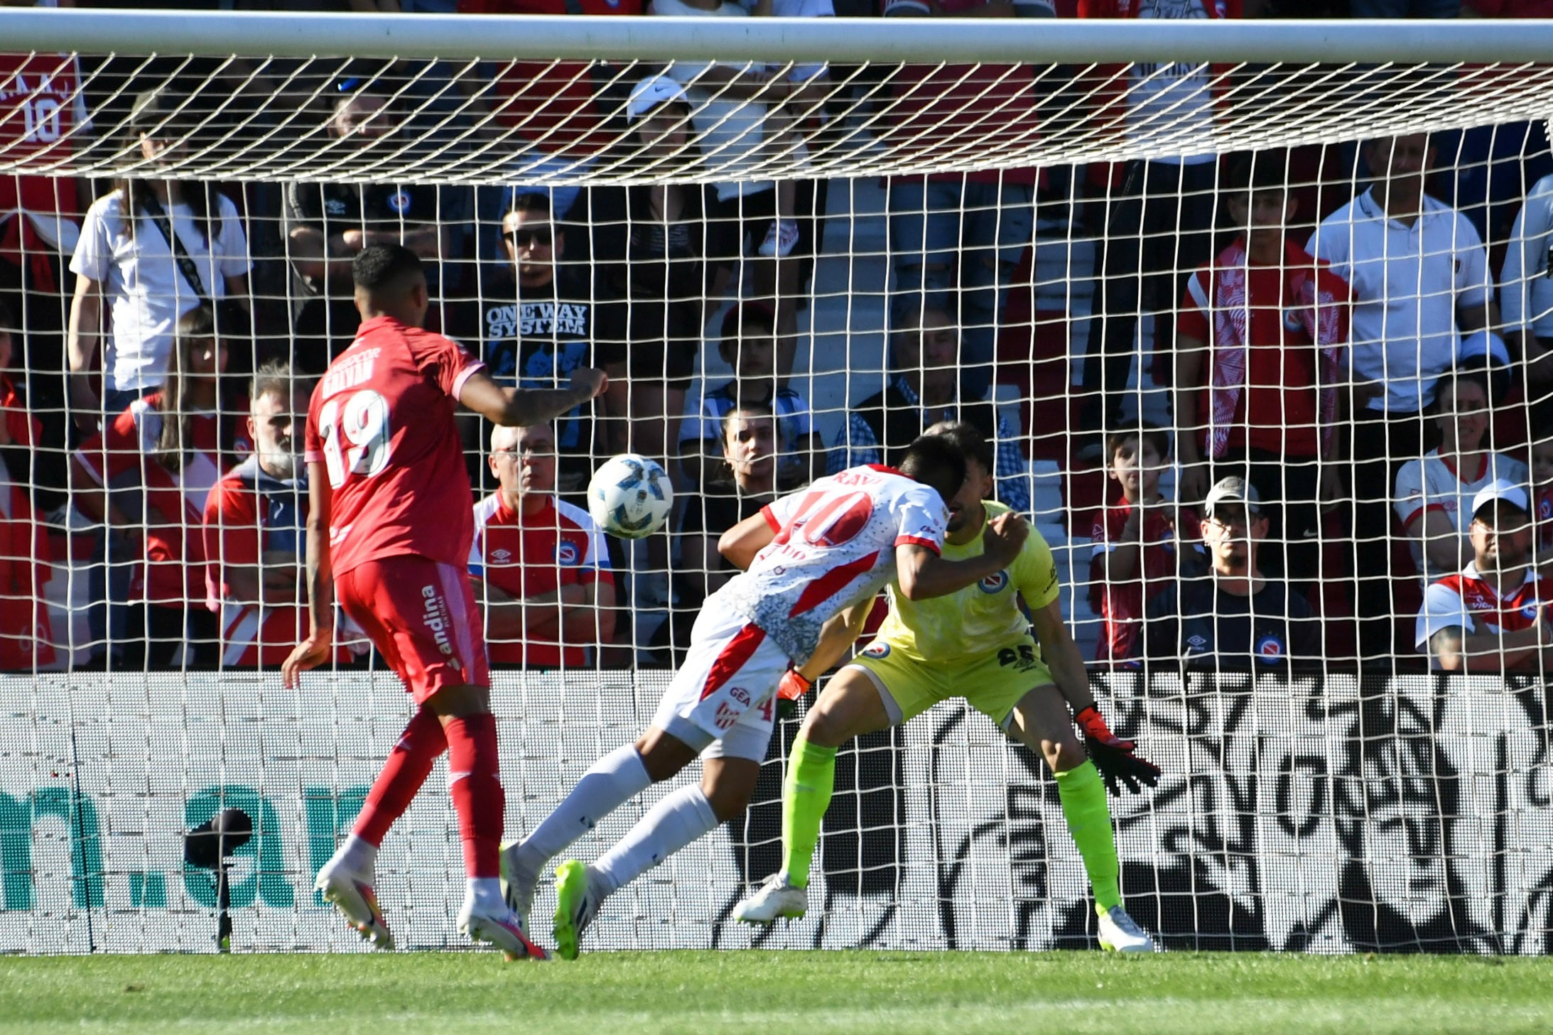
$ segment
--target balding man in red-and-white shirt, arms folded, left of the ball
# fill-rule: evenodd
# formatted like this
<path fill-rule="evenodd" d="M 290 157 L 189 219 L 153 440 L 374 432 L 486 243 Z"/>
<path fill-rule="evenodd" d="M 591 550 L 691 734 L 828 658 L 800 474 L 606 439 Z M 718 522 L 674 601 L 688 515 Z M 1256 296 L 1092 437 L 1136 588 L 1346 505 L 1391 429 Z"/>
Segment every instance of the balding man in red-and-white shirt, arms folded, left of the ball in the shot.
<path fill-rule="evenodd" d="M 495 428 L 491 473 L 500 489 L 475 504 L 469 574 L 485 602 L 492 664 L 587 664 L 587 647 L 615 638 L 615 577 L 604 534 L 587 511 L 558 500 L 556 436 L 548 424 Z"/>

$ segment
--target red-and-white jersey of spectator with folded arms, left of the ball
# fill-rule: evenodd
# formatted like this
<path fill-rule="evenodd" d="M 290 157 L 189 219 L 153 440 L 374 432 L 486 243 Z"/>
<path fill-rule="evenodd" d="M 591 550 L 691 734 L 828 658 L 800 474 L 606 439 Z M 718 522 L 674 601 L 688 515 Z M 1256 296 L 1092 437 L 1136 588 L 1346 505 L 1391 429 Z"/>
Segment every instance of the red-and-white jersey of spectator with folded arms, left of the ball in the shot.
<path fill-rule="evenodd" d="M 475 543 L 469 551 L 469 573 L 508 596 L 522 599 L 595 582 L 615 585 L 604 535 L 587 511 L 545 497 L 545 509 L 525 517 L 508 507 L 500 492 L 494 492 L 475 504 L 474 514 Z M 537 639 L 488 638 L 486 655 L 497 664 L 587 664 L 582 647 Z"/>

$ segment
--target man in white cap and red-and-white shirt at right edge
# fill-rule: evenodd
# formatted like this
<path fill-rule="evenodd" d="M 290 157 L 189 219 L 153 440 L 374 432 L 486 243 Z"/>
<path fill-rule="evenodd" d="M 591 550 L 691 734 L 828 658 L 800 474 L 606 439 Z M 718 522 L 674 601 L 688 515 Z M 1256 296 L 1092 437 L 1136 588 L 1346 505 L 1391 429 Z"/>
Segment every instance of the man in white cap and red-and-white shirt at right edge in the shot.
<path fill-rule="evenodd" d="M 1494 481 L 1472 498 L 1474 559 L 1433 582 L 1415 641 L 1444 672 L 1537 672 L 1553 667 L 1553 579 L 1531 563 L 1531 501 Z"/>

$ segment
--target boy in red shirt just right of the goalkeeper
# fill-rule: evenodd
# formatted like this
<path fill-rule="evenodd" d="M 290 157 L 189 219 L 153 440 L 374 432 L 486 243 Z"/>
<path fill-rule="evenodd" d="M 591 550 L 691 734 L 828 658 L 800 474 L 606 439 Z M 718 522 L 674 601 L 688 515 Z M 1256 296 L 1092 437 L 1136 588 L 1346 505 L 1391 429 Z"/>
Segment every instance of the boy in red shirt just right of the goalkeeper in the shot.
<path fill-rule="evenodd" d="M 1090 610 L 1104 619 L 1096 661 L 1132 656 L 1143 622 L 1143 602 L 1168 582 L 1202 569 L 1200 520 L 1160 495 L 1160 472 L 1169 461 L 1169 436 L 1141 422 L 1106 442 L 1107 476 L 1121 486 L 1121 501 L 1095 515 L 1089 562 Z M 1182 552 L 1182 545 L 1186 552 Z"/>

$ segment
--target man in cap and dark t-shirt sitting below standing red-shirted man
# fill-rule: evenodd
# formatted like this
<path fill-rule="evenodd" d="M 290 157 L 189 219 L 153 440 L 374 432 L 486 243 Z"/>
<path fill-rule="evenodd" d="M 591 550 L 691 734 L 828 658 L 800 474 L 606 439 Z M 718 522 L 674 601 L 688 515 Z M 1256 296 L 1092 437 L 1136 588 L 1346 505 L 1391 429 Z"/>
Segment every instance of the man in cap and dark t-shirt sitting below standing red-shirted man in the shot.
<path fill-rule="evenodd" d="M 1208 574 L 1182 579 L 1145 605 L 1134 664 L 1259 669 L 1318 658 L 1320 628 L 1309 604 L 1256 566 L 1264 538 L 1267 515 L 1256 487 L 1242 478 L 1213 486 L 1202 521 Z"/>

